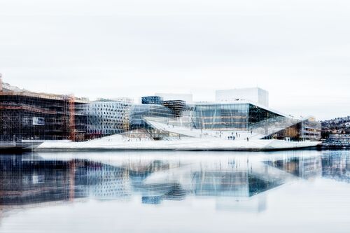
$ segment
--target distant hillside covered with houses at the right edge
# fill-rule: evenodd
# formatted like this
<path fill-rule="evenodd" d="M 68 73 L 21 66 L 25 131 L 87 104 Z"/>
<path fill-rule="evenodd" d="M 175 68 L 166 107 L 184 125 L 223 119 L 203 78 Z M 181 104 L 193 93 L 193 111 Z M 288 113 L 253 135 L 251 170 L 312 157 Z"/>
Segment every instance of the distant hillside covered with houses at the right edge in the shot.
<path fill-rule="evenodd" d="M 332 120 L 323 120 L 322 134 L 323 138 L 327 137 L 328 134 L 349 134 L 350 133 L 350 116 L 344 118 L 335 118 Z"/>

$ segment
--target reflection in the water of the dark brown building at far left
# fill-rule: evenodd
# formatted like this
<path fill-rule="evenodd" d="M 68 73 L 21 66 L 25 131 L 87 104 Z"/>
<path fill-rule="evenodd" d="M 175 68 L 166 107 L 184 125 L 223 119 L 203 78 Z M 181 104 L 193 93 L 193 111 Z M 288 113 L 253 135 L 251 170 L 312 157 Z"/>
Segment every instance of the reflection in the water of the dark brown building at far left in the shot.
<path fill-rule="evenodd" d="M 87 197 L 84 163 L 24 160 L 22 155 L 0 159 L 0 206 L 71 201 Z"/>

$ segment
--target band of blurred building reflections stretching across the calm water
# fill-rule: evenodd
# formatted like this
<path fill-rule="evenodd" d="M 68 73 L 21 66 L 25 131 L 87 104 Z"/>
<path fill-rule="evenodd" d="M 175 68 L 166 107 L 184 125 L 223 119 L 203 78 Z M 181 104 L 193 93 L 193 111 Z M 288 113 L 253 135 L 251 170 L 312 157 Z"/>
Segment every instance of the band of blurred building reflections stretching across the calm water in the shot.
<path fill-rule="evenodd" d="M 228 156 L 214 160 L 48 159 L 41 154 L 0 157 L 0 207 L 130 200 L 143 204 L 211 198 L 216 208 L 264 211 L 269 190 L 295 179 L 321 176 L 349 182 L 349 156 Z"/>

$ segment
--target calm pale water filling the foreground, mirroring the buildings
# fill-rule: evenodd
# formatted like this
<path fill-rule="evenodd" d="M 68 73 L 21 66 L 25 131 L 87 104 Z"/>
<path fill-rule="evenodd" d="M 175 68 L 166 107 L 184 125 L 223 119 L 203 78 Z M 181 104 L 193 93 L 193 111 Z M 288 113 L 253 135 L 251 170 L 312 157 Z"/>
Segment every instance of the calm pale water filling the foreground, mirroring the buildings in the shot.
<path fill-rule="evenodd" d="M 0 232 L 350 232 L 350 150 L 0 156 Z"/>

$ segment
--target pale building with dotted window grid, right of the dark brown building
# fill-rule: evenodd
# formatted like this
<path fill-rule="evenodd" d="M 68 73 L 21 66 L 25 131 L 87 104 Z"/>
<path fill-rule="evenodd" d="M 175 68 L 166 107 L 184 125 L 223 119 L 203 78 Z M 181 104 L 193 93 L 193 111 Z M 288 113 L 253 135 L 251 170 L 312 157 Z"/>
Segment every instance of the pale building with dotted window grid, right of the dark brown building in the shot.
<path fill-rule="evenodd" d="M 129 130 L 130 99 L 99 99 L 86 105 L 89 138 L 120 134 Z"/>

